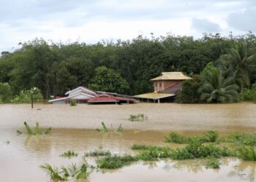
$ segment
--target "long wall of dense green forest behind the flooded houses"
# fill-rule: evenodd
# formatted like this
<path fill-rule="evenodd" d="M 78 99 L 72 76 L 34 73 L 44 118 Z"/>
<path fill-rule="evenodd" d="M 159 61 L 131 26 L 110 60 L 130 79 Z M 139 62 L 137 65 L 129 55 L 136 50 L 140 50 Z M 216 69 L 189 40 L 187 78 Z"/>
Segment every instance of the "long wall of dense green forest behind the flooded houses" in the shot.
<path fill-rule="evenodd" d="M 137 95 L 151 92 L 153 84 L 149 79 L 162 71 L 182 71 L 193 76 L 200 74 L 208 63 L 217 66 L 219 58 L 239 42 L 246 45 L 248 55 L 256 53 L 256 36 L 252 32 L 242 36 L 205 33 L 200 39 L 152 34 L 149 38 L 138 36 L 97 44 L 34 39 L 20 43 L 20 48 L 12 52 L 1 52 L 0 82 L 10 84 L 12 95 L 38 87 L 48 99 L 80 85 L 95 87 L 97 70 L 106 67 L 121 77 L 126 89 L 120 92 Z M 248 75 L 250 83 L 255 83 L 256 68 Z"/>

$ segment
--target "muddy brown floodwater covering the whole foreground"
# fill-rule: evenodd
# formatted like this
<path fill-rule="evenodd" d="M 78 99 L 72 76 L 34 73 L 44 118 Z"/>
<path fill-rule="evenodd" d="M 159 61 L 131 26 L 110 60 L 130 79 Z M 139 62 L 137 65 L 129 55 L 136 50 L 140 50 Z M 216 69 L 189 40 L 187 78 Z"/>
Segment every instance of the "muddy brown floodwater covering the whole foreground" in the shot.
<path fill-rule="evenodd" d="M 40 109 L 40 110 L 37 110 Z M 64 159 L 59 154 L 77 151 L 79 156 L 102 146 L 115 154 L 134 154 L 132 144 L 167 144 L 163 138 L 176 130 L 199 135 L 204 130 L 255 132 L 256 104 L 180 105 L 174 103 L 134 105 L 0 105 L 0 181 L 50 181 L 39 165 L 59 166 L 78 162 L 80 157 Z M 143 113 L 144 122 L 129 122 L 129 114 Z M 39 138 L 16 135 L 23 121 L 53 127 L 50 135 Z M 122 134 L 99 133 L 95 128 L 122 124 Z M 8 144 L 7 141 L 10 141 Z M 94 164 L 94 159 L 88 159 Z M 255 181 L 255 162 L 221 160 L 219 170 L 206 169 L 201 160 L 136 162 L 118 170 L 99 170 L 89 181 Z"/>

